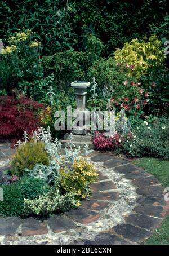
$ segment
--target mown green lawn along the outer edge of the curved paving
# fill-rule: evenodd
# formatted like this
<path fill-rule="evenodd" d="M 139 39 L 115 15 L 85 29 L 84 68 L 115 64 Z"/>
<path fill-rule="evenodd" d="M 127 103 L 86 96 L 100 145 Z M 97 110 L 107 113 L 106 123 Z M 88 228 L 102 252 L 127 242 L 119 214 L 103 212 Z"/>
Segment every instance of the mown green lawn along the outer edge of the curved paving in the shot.
<path fill-rule="evenodd" d="M 134 160 L 134 164 L 153 174 L 164 187 L 169 187 L 169 161 L 157 158 L 140 158 L 139 160 Z M 145 244 L 169 245 L 169 216 L 163 220 L 162 226 L 145 241 Z"/>

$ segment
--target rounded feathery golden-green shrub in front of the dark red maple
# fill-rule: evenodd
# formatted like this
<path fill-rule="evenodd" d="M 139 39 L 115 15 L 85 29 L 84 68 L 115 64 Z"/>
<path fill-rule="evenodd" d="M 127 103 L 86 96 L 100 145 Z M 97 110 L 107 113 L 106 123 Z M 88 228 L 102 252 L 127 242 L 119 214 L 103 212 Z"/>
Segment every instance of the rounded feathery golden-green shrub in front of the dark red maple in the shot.
<path fill-rule="evenodd" d="M 49 156 L 45 151 L 45 143 L 41 141 L 35 142 L 32 139 L 26 144 L 21 145 L 20 148 L 17 148 L 10 164 L 12 174 L 22 176 L 24 168 L 32 170 L 37 163 L 48 165 Z"/>

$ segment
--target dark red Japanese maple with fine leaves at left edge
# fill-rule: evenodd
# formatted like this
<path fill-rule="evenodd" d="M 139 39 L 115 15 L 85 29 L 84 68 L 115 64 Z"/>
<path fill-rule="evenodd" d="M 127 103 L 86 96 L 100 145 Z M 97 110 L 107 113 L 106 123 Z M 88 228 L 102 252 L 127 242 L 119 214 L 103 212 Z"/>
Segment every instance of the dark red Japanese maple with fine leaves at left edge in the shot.
<path fill-rule="evenodd" d="M 0 96 L 0 138 L 21 138 L 24 131 L 31 134 L 39 126 L 38 110 L 43 104 L 22 95 Z"/>

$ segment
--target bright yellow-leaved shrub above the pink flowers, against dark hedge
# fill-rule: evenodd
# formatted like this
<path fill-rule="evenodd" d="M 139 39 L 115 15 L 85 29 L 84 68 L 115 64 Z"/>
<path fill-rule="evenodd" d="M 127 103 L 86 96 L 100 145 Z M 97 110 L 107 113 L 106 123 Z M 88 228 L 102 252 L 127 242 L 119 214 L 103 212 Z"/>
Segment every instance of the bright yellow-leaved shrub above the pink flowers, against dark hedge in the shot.
<path fill-rule="evenodd" d="M 161 48 L 161 41 L 151 36 L 149 40 L 139 42 L 138 39 L 132 39 L 130 43 L 124 43 L 122 49 L 118 48 L 114 52 L 114 59 L 127 64 L 129 74 L 140 78 L 148 68 L 163 63 L 166 55 Z"/>

